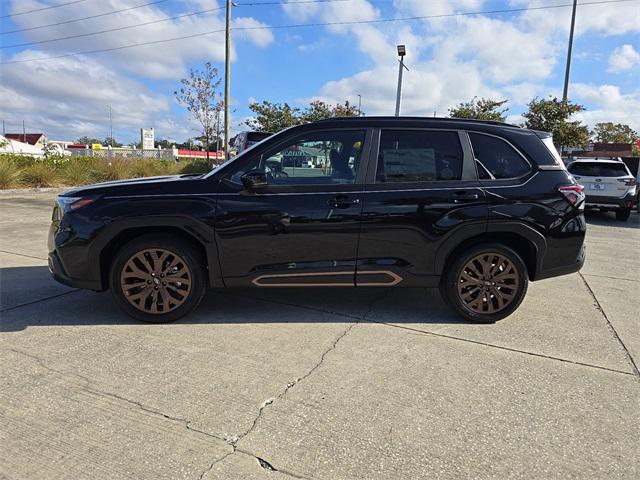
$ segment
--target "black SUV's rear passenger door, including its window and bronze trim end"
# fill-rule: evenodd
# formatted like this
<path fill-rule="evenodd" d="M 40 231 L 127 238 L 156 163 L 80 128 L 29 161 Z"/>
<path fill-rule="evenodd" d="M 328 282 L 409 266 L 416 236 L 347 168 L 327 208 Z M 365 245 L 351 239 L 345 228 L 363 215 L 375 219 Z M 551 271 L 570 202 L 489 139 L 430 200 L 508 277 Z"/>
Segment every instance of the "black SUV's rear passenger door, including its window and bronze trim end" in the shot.
<path fill-rule="evenodd" d="M 486 218 L 484 193 L 464 132 L 376 130 L 356 284 L 437 285 L 451 246 L 483 233 Z"/>

